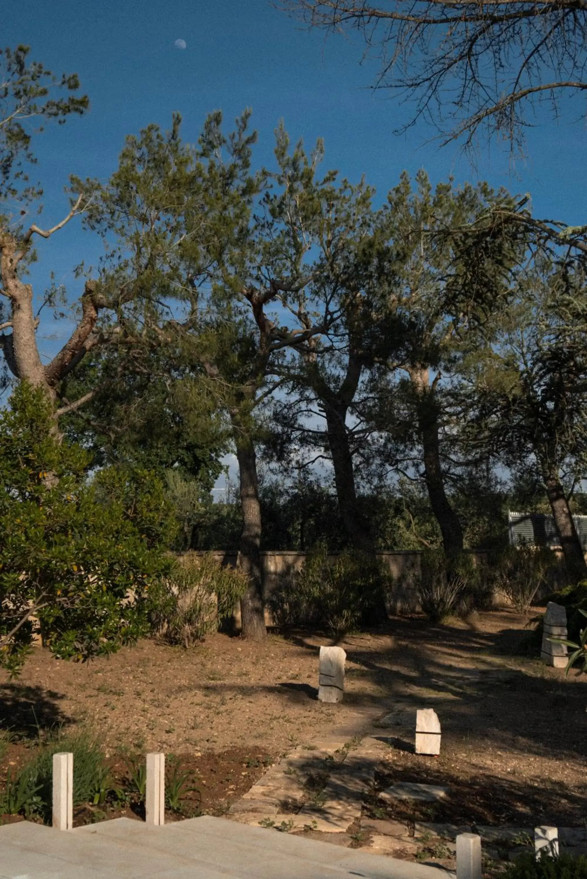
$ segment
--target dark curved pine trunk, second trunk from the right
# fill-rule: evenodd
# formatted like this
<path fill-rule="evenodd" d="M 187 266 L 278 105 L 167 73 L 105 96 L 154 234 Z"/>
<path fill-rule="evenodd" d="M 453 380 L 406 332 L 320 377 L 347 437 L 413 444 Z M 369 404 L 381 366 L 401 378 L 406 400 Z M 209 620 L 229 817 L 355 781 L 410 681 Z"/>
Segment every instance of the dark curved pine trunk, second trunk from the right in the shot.
<path fill-rule="evenodd" d="M 422 442 L 424 477 L 432 512 L 443 537 L 444 555 L 457 558 L 463 551 L 463 528 L 444 490 L 444 474 L 440 462 L 440 425 L 434 387 L 429 385 L 428 367 L 415 367 L 409 372 L 416 396 L 416 419 Z"/>

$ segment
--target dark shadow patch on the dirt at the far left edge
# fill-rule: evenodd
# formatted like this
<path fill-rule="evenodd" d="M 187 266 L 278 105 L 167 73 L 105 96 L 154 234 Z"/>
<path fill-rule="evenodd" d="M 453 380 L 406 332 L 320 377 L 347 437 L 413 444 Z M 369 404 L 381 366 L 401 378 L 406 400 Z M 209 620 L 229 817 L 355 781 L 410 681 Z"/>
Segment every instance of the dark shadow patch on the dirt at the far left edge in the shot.
<path fill-rule="evenodd" d="M 62 693 L 41 686 L 0 685 L 0 730 L 17 738 L 36 738 L 42 733 L 73 723 L 58 701 Z"/>

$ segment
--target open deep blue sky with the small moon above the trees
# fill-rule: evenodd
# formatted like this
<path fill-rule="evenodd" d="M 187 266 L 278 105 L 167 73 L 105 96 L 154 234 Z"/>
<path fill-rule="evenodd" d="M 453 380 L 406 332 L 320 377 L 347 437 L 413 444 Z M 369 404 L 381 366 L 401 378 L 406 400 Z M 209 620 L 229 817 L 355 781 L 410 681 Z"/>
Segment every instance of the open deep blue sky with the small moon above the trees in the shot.
<path fill-rule="evenodd" d="M 260 134 L 259 163 L 270 162 L 273 131 L 283 118 L 292 139 L 311 145 L 323 137 L 325 168 L 351 180 L 364 174 L 378 200 L 401 171 L 424 167 L 433 182 L 449 174 L 457 182 L 488 179 L 532 193 L 538 215 L 585 222 L 586 132 L 578 100 L 559 126 L 537 120 L 543 124 L 529 132 L 529 161 L 517 162 L 515 173 L 508 149 L 495 144 L 481 150 L 473 169 L 456 146 L 430 142 L 435 133 L 423 124 L 393 134 L 410 108 L 388 92 L 369 90 L 377 68 L 359 65 L 359 43 L 308 33 L 269 0 L 52 0 L 34 8 L 0 0 L 0 21 L 3 45 L 24 42 L 56 73 L 76 71 L 92 102 L 83 119 L 48 130 L 36 143 L 45 225 L 67 212 L 63 187 L 71 173 L 107 178 L 114 171 L 125 134 L 150 122 L 168 127 L 179 111 L 183 135 L 193 141 L 212 110 L 223 110 L 231 122 L 247 106 Z M 178 39 L 185 50 L 174 47 Z M 42 292 L 53 270 L 75 297 L 73 266 L 98 255 L 99 244 L 71 222 L 40 242 L 35 290 Z M 55 350 L 69 330 L 67 323 L 42 329 L 41 348 Z"/>

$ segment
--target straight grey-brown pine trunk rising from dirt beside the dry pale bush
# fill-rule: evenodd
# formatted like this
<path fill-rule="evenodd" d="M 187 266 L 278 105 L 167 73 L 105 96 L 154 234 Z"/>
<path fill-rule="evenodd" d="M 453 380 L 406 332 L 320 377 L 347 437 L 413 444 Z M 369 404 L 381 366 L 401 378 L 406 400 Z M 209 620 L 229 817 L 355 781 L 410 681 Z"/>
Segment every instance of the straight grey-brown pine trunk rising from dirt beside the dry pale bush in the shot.
<path fill-rule="evenodd" d="M 250 587 L 240 599 L 241 632 L 252 641 L 262 641 L 267 637 L 265 613 L 263 608 L 263 585 L 260 567 L 260 501 L 257 459 L 253 439 L 250 434 L 237 425 L 235 444 L 237 447 L 238 474 L 240 480 L 240 506 L 243 515 L 243 530 L 238 547 L 238 567 L 246 573 Z"/>

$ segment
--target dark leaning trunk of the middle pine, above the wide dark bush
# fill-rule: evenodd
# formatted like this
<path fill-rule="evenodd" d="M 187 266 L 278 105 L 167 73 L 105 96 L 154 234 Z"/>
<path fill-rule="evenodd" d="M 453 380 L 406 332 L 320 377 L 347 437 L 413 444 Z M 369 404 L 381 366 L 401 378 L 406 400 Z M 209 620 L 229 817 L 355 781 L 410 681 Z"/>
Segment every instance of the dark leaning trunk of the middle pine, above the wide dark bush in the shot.
<path fill-rule="evenodd" d="M 323 401 L 327 418 L 328 447 L 333 461 L 336 497 L 349 543 L 363 552 L 373 552 L 373 542 L 356 503 L 355 471 L 347 432 L 347 406 L 331 397 Z"/>

